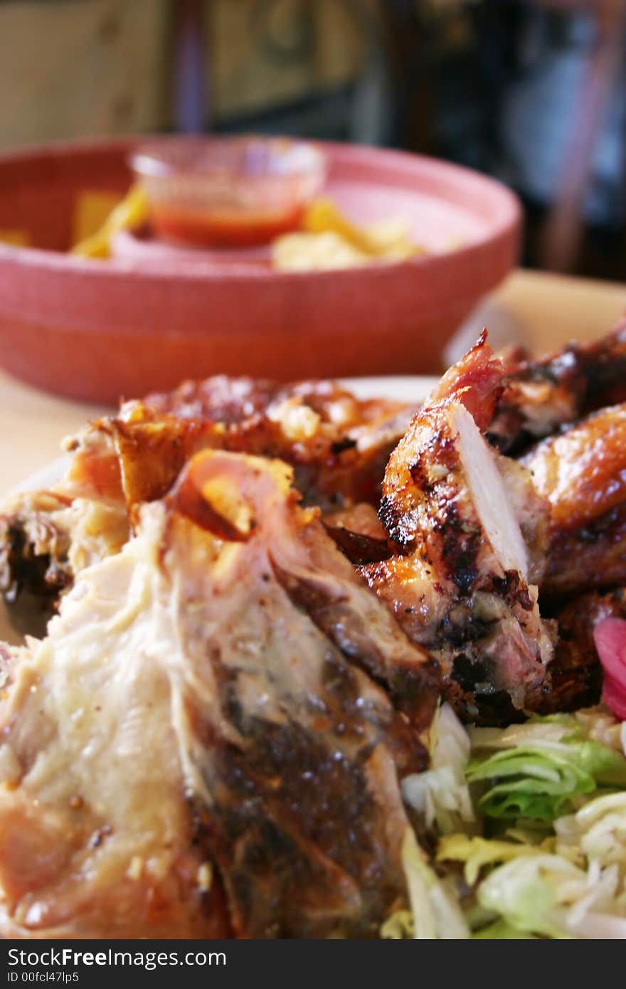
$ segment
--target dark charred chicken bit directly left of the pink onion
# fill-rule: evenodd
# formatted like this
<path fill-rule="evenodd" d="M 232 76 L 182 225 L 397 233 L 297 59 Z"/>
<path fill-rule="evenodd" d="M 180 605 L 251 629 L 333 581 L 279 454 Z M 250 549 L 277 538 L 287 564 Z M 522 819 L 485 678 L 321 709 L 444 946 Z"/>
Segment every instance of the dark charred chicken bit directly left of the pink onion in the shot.
<path fill-rule="evenodd" d="M 626 590 L 592 592 L 556 613 L 559 640 L 550 666 L 552 687 L 536 708 L 539 714 L 576 711 L 597 704 L 602 668 L 593 643 L 593 629 L 605 618 L 626 618 Z"/>

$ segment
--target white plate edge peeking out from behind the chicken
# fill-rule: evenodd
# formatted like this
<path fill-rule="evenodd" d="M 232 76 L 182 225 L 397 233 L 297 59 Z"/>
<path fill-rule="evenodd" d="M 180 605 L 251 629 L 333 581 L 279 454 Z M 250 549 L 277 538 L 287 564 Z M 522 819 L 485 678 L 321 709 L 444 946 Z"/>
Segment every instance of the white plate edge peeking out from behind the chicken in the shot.
<path fill-rule="evenodd" d="M 436 378 L 407 375 L 405 377 L 343 378 L 341 384 L 354 392 L 359 399 L 392 399 L 398 402 L 414 402 L 415 405 L 418 405 L 423 402 L 436 381 Z M 53 460 L 37 474 L 32 474 L 26 478 L 15 491 L 42 491 L 46 488 L 53 488 L 65 473 L 68 462 L 69 457 L 59 457 Z M 11 632 L 1 601 L 0 641 L 14 643 L 19 641 Z"/>

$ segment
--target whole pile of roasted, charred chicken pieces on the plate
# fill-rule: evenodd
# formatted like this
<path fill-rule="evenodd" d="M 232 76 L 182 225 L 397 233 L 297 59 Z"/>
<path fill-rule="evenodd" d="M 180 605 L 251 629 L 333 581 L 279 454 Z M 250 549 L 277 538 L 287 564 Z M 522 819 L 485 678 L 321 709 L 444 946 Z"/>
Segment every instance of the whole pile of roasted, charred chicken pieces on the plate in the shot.
<path fill-rule="evenodd" d="M 40 637 L 0 647 L 0 936 L 378 937 L 440 699 L 599 697 L 625 372 L 624 328 L 517 366 L 484 333 L 412 418 L 221 377 L 74 437 L 0 513 Z"/>

